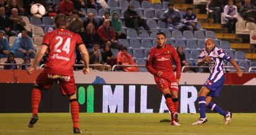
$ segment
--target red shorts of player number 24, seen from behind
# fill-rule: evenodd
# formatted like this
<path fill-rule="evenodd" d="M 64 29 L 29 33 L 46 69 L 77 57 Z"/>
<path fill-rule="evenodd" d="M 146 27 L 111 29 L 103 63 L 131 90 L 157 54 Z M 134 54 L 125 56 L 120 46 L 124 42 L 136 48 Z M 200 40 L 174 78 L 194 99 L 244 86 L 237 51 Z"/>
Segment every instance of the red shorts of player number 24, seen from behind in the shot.
<path fill-rule="evenodd" d="M 36 83 L 43 87 L 44 89 L 50 89 L 53 83 L 59 82 L 59 88 L 63 95 L 71 96 L 75 94 L 77 88 L 75 86 L 74 75 L 70 76 L 62 76 L 62 75 L 53 75 L 47 73 L 46 70 L 40 73 L 40 75 L 36 78 Z"/>

